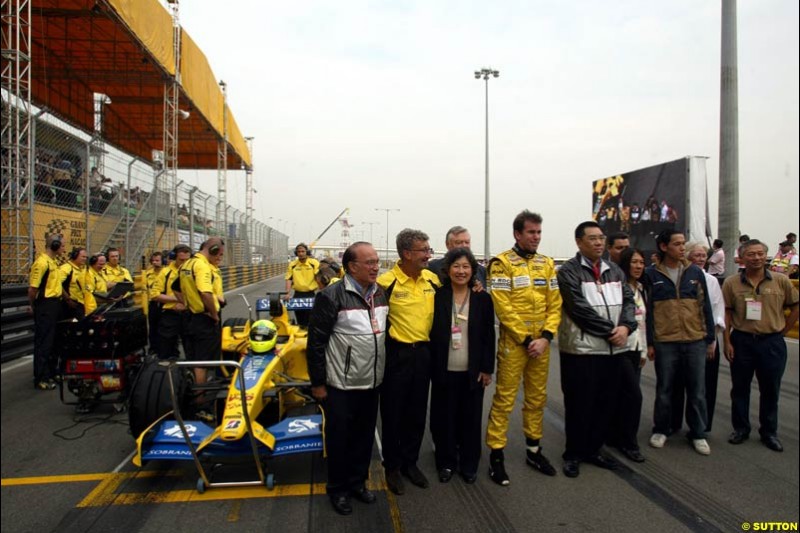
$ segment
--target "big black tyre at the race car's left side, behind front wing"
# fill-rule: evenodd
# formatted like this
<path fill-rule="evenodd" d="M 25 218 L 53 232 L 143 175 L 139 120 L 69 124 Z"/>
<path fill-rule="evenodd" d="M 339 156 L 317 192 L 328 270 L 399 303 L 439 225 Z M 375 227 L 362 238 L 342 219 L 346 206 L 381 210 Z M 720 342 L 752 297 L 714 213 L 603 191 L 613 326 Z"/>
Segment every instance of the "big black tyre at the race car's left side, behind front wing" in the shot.
<path fill-rule="evenodd" d="M 167 378 L 169 368 L 165 361 L 149 361 L 142 366 L 133 384 L 128 402 L 128 422 L 134 439 L 159 417 L 173 410 Z M 189 379 L 180 368 L 172 367 L 172 380 L 180 402 L 178 407 L 184 411 L 189 403 Z"/>

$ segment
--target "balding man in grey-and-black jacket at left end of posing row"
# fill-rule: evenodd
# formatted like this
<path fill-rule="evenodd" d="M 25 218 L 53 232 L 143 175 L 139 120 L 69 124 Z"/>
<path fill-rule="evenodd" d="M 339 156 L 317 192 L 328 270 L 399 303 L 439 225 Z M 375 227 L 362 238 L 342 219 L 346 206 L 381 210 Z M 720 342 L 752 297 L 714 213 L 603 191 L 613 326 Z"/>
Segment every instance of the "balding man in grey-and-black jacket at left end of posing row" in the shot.
<path fill-rule="evenodd" d="M 317 293 L 308 328 L 311 394 L 325 414 L 328 496 L 334 510 L 353 512 L 350 496 L 373 503 L 369 476 L 378 417 L 378 386 L 386 361 L 389 306 L 375 280 L 378 254 L 352 244 L 342 256 L 345 277 Z"/>

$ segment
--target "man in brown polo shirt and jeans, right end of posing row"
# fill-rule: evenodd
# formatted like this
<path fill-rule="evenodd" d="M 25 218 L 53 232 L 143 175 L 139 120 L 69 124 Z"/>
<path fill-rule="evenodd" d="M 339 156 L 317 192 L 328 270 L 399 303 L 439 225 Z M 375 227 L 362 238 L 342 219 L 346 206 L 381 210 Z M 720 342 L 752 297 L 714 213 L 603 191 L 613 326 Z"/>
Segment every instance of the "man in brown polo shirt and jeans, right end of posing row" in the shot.
<path fill-rule="evenodd" d="M 786 369 L 783 337 L 798 317 L 797 289 L 789 279 L 766 266 L 767 246 L 753 239 L 740 257 L 744 271 L 729 276 L 722 285 L 725 298 L 725 358 L 731 363 L 731 421 L 728 442 L 741 444 L 750 435 L 750 387 L 758 378 L 760 407 L 758 432 L 770 450 L 783 451 L 778 440 L 778 398 Z M 784 317 L 784 309 L 789 317 Z"/>

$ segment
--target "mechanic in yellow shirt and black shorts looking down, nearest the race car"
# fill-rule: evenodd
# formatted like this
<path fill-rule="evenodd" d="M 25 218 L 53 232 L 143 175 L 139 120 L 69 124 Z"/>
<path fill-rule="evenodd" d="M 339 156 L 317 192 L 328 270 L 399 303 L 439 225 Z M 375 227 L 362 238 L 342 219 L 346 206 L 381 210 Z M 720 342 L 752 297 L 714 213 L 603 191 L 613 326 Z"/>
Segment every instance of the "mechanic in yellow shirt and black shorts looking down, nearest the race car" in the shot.
<path fill-rule="evenodd" d="M 198 361 L 219 359 L 222 349 L 219 300 L 214 292 L 214 269 L 225 254 L 225 242 L 211 237 L 194 257 L 181 265 L 180 277 L 172 288 L 189 309 L 186 327 L 186 358 Z M 177 286 L 176 286 L 177 285 Z M 194 368 L 195 383 L 206 382 L 206 368 Z M 201 413 L 198 413 L 203 418 Z"/>

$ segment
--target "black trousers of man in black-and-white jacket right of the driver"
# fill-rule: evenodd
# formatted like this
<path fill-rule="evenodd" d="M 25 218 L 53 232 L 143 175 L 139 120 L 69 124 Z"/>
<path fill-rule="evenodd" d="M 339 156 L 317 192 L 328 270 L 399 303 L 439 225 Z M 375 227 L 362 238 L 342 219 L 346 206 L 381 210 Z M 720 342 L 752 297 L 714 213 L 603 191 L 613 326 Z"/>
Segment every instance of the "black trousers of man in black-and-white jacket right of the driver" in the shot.
<path fill-rule="evenodd" d="M 581 461 L 599 452 L 606 440 L 623 358 L 561 353 L 560 359 L 567 436 L 563 457 Z"/>

